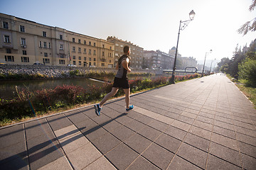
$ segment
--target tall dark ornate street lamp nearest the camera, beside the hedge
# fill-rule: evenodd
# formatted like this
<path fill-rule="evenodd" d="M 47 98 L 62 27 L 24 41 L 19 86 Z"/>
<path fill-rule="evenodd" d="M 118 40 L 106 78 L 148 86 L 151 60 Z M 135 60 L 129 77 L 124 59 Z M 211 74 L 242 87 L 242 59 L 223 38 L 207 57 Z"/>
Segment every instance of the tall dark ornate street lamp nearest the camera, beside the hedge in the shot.
<path fill-rule="evenodd" d="M 187 26 L 188 26 L 188 23 L 190 23 L 190 21 L 193 20 L 193 18 L 195 17 L 195 12 L 192 10 L 190 13 L 189 13 L 189 18 L 190 20 L 187 20 L 187 21 L 180 21 L 180 25 L 178 27 L 178 38 L 179 38 L 179 35 L 180 35 L 180 31 L 181 30 L 184 30 Z M 181 27 L 181 23 L 183 23 L 183 26 Z M 178 40 L 177 40 L 177 46 L 176 46 L 176 52 L 175 52 L 175 58 L 174 58 L 174 68 L 173 68 L 173 72 L 171 74 L 171 84 L 175 84 L 175 70 L 176 70 L 176 60 L 177 60 L 177 53 L 178 53 Z"/>

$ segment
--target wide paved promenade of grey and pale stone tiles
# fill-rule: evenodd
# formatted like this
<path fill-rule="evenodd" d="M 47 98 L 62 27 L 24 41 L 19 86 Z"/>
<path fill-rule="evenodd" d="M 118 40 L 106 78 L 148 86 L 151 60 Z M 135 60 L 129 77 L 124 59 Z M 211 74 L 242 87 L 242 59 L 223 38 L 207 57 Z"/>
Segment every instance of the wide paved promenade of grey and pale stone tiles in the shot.
<path fill-rule="evenodd" d="M 0 129 L 0 169 L 256 169 L 256 109 L 225 77 Z"/>

